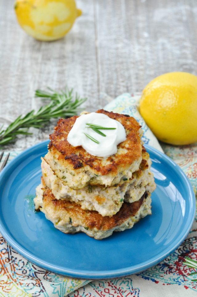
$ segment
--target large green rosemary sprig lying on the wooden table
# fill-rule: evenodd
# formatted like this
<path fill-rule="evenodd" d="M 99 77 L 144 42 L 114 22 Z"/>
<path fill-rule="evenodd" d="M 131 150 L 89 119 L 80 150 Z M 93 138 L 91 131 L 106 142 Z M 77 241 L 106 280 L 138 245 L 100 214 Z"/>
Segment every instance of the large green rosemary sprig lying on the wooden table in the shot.
<path fill-rule="evenodd" d="M 73 89 L 67 87 L 60 92 L 48 88 L 48 91 L 36 90 L 35 97 L 50 102 L 38 111 L 32 110 L 25 116 L 20 115 L 6 129 L 0 127 L 0 147 L 16 140 L 18 134 L 30 135 L 30 127 L 42 128 L 49 123 L 52 118 L 67 118 L 76 115 L 81 109 L 79 105 L 86 101 L 80 98 L 77 93 L 73 95 Z"/>

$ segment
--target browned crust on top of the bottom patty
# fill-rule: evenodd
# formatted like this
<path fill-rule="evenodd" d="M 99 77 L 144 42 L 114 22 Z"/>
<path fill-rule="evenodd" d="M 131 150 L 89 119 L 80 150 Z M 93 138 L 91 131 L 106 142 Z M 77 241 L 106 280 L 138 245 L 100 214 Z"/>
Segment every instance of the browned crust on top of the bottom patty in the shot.
<path fill-rule="evenodd" d="M 119 212 L 113 216 L 102 217 L 96 211 L 83 210 L 74 202 L 55 199 L 51 190 L 46 188 L 43 193 L 43 207 L 46 212 L 50 212 L 51 216 L 61 217 L 61 219 L 69 217 L 74 226 L 82 225 L 89 229 L 104 231 L 121 225 L 129 217 L 135 216 L 147 195 L 145 192 L 138 201 L 133 203 L 124 202 Z"/>

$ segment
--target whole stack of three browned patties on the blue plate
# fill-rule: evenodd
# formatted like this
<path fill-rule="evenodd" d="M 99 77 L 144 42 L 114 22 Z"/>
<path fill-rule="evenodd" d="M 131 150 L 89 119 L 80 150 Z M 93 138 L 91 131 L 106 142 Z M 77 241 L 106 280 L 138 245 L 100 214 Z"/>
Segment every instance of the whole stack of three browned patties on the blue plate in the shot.
<path fill-rule="evenodd" d="M 97 113 L 124 126 L 127 138 L 119 143 L 117 153 L 97 157 L 82 146 L 70 145 L 67 136 L 78 117 L 60 119 L 42 158 L 41 184 L 34 203 L 60 231 L 102 239 L 113 231 L 132 228 L 151 214 L 155 182 L 138 122 L 103 109 Z"/>

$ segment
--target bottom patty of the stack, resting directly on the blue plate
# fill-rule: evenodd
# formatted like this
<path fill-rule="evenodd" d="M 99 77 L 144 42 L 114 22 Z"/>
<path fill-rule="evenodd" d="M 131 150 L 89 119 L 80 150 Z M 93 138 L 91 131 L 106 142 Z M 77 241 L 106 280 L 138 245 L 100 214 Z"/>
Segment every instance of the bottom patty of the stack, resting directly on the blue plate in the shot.
<path fill-rule="evenodd" d="M 113 216 L 102 217 L 96 211 L 84 210 L 75 202 L 55 199 L 49 188 L 42 184 L 37 187 L 34 198 L 35 208 L 45 214 L 54 227 L 64 233 L 84 232 L 95 239 L 103 239 L 114 231 L 131 229 L 141 218 L 151 214 L 149 192 L 133 203 L 124 202 L 119 212 Z"/>

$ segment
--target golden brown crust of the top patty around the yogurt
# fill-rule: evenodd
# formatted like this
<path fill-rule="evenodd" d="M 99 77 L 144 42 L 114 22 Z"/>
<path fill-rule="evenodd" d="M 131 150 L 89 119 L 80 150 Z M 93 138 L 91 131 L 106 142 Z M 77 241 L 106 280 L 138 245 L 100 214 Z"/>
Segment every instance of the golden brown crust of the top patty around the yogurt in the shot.
<path fill-rule="evenodd" d="M 108 112 L 103 109 L 98 110 L 97 113 L 106 114 L 108 117 L 119 121 L 124 126 L 127 139 L 118 145 L 118 149 L 122 149 L 123 152 L 112 155 L 106 159 L 90 155 L 82 146 L 74 147 L 70 145 L 67 141 L 67 135 L 78 118 L 77 116 L 68 119 L 60 119 L 58 121 L 57 126 L 54 128 L 54 133 L 50 134 L 48 148 L 53 154 L 55 154 L 57 150 L 60 153 L 58 154 L 58 160 L 63 162 L 65 166 L 71 167 L 72 170 L 85 167 L 86 170 L 89 168 L 95 173 L 98 172 L 99 175 L 107 175 L 108 173 L 116 175 L 119 172 L 119 167 L 121 170 L 124 168 L 127 169 L 130 164 L 141 158 L 140 125 L 133 117 L 127 115 Z M 104 163 L 103 159 L 105 159 Z"/>

